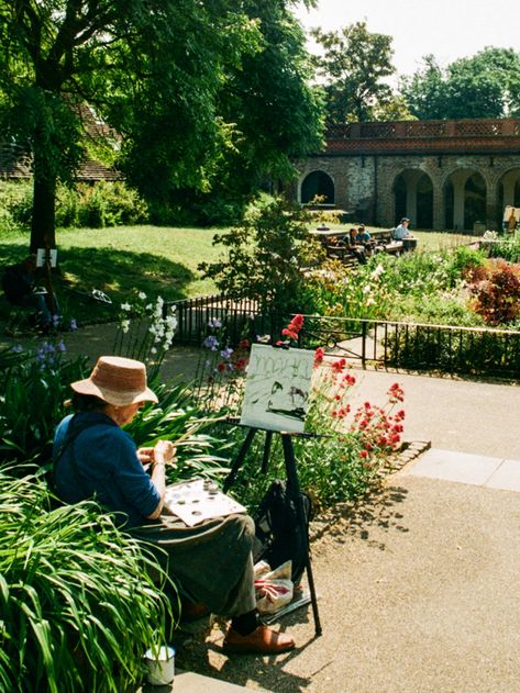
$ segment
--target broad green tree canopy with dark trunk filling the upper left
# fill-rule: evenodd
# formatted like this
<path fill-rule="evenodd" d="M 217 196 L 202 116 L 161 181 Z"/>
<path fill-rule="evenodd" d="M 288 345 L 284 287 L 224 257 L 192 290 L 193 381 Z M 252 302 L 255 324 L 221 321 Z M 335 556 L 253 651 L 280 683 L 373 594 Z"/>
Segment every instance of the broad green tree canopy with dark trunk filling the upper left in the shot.
<path fill-rule="evenodd" d="M 56 182 L 86 155 L 82 104 L 112 128 L 102 137 L 118 134 L 128 178 L 164 204 L 175 190 L 209 190 L 230 152 L 245 170 L 279 175 L 289 156 L 318 145 L 303 34 L 290 0 L 264 4 L 0 0 L 0 124 L 32 155 L 32 248 L 55 245 Z M 275 85 L 262 74 L 267 54 L 278 60 Z M 277 123 L 264 120 L 269 109 Z"/>

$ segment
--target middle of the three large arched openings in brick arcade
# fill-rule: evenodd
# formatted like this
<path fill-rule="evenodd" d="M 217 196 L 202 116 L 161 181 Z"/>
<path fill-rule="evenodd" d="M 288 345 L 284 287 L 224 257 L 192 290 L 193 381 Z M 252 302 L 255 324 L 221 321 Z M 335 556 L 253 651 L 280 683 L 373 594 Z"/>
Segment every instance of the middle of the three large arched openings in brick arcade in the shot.
<path fill-rule="evenodd" d="M 489 182 L 475 168 L 457 168 L 444 180 L 444 227 L 473 231 L 477 222 L 486 224 Z"/>

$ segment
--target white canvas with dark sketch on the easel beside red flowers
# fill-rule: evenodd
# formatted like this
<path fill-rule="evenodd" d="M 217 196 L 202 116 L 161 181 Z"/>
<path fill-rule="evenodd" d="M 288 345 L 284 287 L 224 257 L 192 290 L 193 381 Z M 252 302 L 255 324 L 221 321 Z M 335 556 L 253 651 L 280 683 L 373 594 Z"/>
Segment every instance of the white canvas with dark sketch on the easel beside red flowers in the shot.
<path fill-rule="evenodd" d="M 240 423 L 303 433 L 313 362 L 313 351 L 253 345 Z"/>

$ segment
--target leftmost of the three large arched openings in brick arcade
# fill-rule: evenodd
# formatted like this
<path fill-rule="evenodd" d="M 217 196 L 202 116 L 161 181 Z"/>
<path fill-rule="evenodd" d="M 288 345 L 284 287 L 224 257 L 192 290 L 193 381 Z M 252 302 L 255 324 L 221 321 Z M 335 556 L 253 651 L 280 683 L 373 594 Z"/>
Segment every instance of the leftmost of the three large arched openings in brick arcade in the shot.
<path fill-rule="evenodd" d="M 406 168 L 391 187 L 394 221 L 409 216 L 416 228 L 433 228 L 433 181 L 422 168 Z"/>

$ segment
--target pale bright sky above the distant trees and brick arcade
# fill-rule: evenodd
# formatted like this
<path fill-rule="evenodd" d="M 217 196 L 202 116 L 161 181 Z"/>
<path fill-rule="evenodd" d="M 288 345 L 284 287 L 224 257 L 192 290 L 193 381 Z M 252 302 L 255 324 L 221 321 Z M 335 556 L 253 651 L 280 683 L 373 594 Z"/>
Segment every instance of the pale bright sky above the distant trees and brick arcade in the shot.
<path fill-rule="evenodd" d="M 433 54 L 445 67 L 487 46 L 520 52 L 520 0 L 318 0 L 318 9 L 299 5 L 306 29 L 338 31 L 366 21 L 369 32 L 392 36 L 394 65 L 411 75 Z M 309 49 L 313 51 L 309 44 Z"/>

